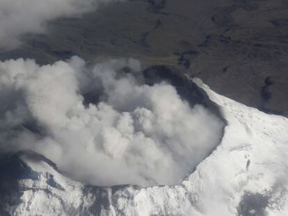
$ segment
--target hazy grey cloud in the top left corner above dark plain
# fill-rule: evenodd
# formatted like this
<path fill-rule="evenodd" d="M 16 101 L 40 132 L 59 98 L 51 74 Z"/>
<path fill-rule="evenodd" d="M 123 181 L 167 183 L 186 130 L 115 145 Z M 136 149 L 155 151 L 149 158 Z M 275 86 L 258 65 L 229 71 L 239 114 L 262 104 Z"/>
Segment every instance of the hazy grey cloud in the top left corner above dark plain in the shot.
<path fill-rule="evenodd" d="M 113 0 L 0 0 L 0 49 L 13 49 L 26 33 L 44 33 L 45 24 L 72 17 Z"/>

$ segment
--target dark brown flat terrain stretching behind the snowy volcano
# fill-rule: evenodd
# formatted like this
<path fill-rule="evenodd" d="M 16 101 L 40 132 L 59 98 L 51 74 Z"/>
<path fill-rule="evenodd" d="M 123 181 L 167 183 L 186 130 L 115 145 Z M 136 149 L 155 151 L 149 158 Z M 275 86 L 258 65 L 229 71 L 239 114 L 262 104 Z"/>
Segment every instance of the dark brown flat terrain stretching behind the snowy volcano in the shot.
<path fill-rule="evenodd" d="M 219 94 L 288 117 L 287 0 L 127 0 L 51 22 L 0 59 L 137 58 L 201 78 Z M 159 67 L 161 68 L 161 67 Z"/>

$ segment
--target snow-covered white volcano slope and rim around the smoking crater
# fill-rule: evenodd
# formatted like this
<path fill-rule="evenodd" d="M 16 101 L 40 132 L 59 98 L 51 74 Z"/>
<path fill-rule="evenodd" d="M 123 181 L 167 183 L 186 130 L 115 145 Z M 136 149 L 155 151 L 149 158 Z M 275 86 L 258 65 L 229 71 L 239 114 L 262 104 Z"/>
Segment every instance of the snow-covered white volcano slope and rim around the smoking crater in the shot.
<path fill-rule="evenodd" d="M 288 119 L 194 82 L 218 104 L 227 126 L 221 144 L 181 184 L 83 185 L 44 157 L 22 152 L 1 167 L 22 175 L 0 177 L 0 215 L 288 215 Z"/>

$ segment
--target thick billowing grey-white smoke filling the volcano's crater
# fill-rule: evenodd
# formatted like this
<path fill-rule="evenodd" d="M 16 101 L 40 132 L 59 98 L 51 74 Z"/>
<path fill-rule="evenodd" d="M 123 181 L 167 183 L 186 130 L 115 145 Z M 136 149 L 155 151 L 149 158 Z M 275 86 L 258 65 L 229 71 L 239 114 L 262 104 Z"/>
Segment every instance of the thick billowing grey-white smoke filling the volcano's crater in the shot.
<path fill-rule="evenodd" d="M 145 85 L 139 70 L 136 60 L 0 62 L 1 151 L 37 151 L 95 185 L 179 183 L 223 123 L 168 83 Z"/>

